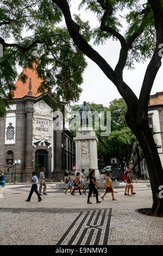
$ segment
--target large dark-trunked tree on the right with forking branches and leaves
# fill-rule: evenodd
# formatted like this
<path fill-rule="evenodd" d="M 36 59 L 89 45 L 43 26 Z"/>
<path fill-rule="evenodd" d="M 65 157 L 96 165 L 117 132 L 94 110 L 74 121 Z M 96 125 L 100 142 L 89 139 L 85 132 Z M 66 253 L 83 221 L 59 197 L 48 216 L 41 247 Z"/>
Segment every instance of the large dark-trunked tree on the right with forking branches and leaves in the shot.
<path fill-rule="evenodd" d="M 100 22 L 99 28 L 93 31 L 95 41 L 103 42 L 111 36 L 121 43 L 120 57 L 115 69 L 88 44 L 80 33 L 79 24 L 72 19 L 67 0 L 53 0 L 65 17 L 66 26 L 74 44 L 93 62 L 95 62 L 104 74 L 115 84 L 127 104 L 126 121 L 137 137 L 146 159 L 151 188 L 153 205 L 146 214 L 151 216 L 163 216 L 163 199 L 159 198 L 159 187 L 163 184 L 163 170 L 158 151 L 155 147 L 152 133 L 148 126 L 148 100 L 156 74 L 161 66 L 162 54 L 160 46 L 163 42 L 163 1 L 148 0 L 141 4 L 139 0 L 83 0 L 82 5 L 97 14 Z M 80 5 L 81 6 L 81 5 Z M 125 35 L 120 33 L 120 21 L 117 12 L 127 8 L 129 14 L 126 19 L 128 29 Z M 123 80 L 123 69 L 131 66 L 129 57 L 137 60 L 151 58 L 142 81 L 139 99 L 131 88 Z"/>

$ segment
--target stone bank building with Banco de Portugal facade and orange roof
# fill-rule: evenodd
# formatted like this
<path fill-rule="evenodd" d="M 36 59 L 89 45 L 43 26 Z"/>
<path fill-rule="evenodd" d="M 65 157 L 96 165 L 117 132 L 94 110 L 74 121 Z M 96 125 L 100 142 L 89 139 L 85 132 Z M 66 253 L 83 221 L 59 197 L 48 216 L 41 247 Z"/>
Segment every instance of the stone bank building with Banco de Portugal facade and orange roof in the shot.
<path fill-rule="evenodd" d="M 65 148 L 63 123 L 61 129 L 56 129 L 59 115 L 51 106 L 57 102 L 49 92 L 43 98 L 37 93 L 42 81 L 35 70 L 27 68 L 23 73 L 28 76 L 27 81 L 23 84 L 17 80 L 13 104 L 0 119 L 0 168 L 5 170 L 6 182 L 9 182 L 9 166 L 12 166 L 11 182 L 14 181 L 15 160 L 21 160 L 16 164 L 17 182 L 30 180 L 34 170 L 39 175 L 43 166 L 46 178 L 64 180 L 67 157 L 71 154 L 70 161 L 74 164 L 75 152 L 73 149 L 69 154 Z M 65 108 L 65 103 L 60 103 Z M 66 141 L 71 141 L 67 135 Z"/>

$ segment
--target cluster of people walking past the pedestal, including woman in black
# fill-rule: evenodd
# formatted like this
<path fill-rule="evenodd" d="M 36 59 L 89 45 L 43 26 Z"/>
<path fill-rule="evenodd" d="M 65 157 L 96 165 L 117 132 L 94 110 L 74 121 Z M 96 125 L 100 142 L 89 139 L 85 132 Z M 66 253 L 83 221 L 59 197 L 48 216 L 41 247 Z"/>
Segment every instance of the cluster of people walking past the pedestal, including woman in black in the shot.
<path fill-rule="evenodd" d="M 89 169 L 89 174 L 86 176 L 84 174 L 84 169 L 82 169 L 81 173 L 77 173 L 75 179 L 72 181 L 71 175 L 72 173 L 69 172 L 68 173 L 68 182 L 67 182 L 67 189 L 65 190 L 65 194 L 67 192 L 67 190 L 70 190 L 70 193 L 72 194 L 72 196 L 74 196 L 74 192 L 75 191 L 79 191 L 79 194 L 85 194 L 86 195 L 86 190 L 89 188 L 89 193 L 88 193 L 88 197 L 87 197 L 87 204 L 92 204 L 90 202 L 90 197 L 92 197 L 92 193 L 93 196 L 96 197 L 96 203 L 101 203 L 101 201 L 98 200 L 98 196 L 100 195 L 98 193 L 97 188 L 98 187 L 98 181 L 95 177 L 95 169 Z M 87 187 L 85 188 L 85 182 L 84 182 L 84 178 L 87 178 Z M 114 191 L 112 190 L 111 187 L 112 181 L 110 179 L 110 172 L 107 173 L 107 178 L 106 178 L 106 182 L 105 182 L 105 186 L 104 186 L 104 190 L 105 193 L 102 196 L 102 200 L 104 200 L 104 196 L 107 193 L 111 193 L 112 195 L 112 200 L 116 200 L 114 197 Z M 83 187 L 83 193 L 81 192 Z M 73 188 L 73 189 L 72 189 Z"/>

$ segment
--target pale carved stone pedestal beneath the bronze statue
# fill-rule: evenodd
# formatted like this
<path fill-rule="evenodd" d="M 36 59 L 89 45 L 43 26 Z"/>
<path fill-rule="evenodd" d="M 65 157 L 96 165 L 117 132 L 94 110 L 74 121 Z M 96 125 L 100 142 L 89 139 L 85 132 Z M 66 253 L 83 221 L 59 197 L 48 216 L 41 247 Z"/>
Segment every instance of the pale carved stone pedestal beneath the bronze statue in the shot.
<path fill-rule="evenodd" d="M 96 178 L 99 180 L 99 170 L 97 162 L 97 142 L 95 131 L 92 127 L 82 127 L 77 131 L 74 138 L 76 141 L 76 173 L 85 169 L 85 174 L 89 169 L 96 170 Z"/>

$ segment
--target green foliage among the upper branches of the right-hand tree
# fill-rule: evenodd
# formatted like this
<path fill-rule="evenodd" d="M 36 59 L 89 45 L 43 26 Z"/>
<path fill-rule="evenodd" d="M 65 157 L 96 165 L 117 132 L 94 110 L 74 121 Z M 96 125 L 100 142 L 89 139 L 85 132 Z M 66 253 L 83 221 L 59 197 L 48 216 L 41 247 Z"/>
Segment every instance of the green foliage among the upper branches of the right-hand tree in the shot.
<path fill-rule="evenodd" d="M 103 3 L 100 4 L 100 2 Z M 92 36 L 94 44 L 103 44 L 109 38 L 117 40 L 115 36 L 112 36 L 108 32 L 103 32 L 100 29 L 102 17 L 104 15 L 106 1 L 92 1 L 82 0 L 79 8 L 85 8 L 92 11 L 97 16 L 99 26 L 92 28 Z M 115 29 L 120 32 L 126 41 L 134 33 L 140 33 L 140 35 L 134 40 L 129 53 L 126 66 L 129 69 L 134 69 L 134 61 L 145 62 L 147 58 L 151 58 L 155 50 L 156 33 L 154 26 L 154 17 L 151 6 L 148 2 L 142 3 L 140 0 L 110 0 L 108 1 L 110 8 L 112 8 L 112 14 L 108 16 L 106 20 L 106 26 Z M 163 6 L 163 1 L 160 1 Z M 127 30 L 122 33 L 122 23 L 127 23 Z"/>

